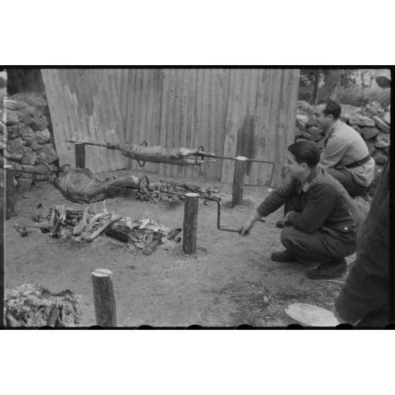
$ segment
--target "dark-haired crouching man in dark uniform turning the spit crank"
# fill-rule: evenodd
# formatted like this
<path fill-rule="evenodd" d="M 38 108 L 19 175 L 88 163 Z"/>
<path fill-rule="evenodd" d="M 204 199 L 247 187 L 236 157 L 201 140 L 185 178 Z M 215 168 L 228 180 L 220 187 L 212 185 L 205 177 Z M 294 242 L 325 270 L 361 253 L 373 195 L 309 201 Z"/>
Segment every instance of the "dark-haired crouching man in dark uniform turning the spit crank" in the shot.
<path fill-rule="evenodd" d="M 347 272 L 346 256 L 355 253 L 359 213 L 350 195 L 319 165 L 314 142 L 299 141 L 287 151 L 285 171 L 291 181 L 266 197 L 239 233 L 245 236 L 258 219 L 285 204 L 281 243 L 273 261 L 298 261 L 311 279 L 328 279 Z"/>

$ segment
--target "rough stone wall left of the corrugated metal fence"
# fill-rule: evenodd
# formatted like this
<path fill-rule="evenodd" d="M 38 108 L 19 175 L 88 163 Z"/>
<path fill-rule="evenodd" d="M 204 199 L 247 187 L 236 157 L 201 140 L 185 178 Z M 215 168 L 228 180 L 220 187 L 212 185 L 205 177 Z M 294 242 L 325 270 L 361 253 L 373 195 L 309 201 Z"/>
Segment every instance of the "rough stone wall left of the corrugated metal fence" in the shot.
<path fill-rule="evenodd" d="M 36 181 L 48 180 L 50 171 L 56 171 L 59 164 L 45 93 L 7 96 L 4 98 L 4 107 L 7 126 L 6 163 L 18 170 L 13 172 L 18 189 L 30 189 Z"/>

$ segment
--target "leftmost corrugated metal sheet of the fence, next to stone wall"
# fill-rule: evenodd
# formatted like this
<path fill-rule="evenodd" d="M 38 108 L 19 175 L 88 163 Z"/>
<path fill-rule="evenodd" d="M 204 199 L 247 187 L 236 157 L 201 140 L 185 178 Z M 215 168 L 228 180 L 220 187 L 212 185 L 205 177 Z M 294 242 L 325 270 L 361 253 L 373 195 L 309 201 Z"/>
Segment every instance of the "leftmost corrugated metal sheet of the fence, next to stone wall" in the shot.
<path fill-rule="evenodd" d="M 48 105 L 60 165 L 74 166 L 74 145 L 84 142 L 125 142 L 120 113 L 121 70 L 43 69 Z M 127 167 L 118 151 L 86 147 L 86 167 L 93 173 Z"/>

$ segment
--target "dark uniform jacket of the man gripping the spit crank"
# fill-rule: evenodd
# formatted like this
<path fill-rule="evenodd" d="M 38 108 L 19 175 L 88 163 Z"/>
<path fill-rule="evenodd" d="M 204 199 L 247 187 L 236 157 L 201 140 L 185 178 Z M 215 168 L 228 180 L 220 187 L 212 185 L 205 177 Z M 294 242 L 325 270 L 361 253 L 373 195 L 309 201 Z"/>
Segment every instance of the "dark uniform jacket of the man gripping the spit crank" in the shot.
<path fill-rule="evenodd" d="M 266 197 L 256 210 L 267 217 L 292 197 L 299 197 L 303 207 L 302 212 L 287 215 L 292 226 L 307 234 L 320 229 L 346 243 L 355 243 L 360 214 L 343 185 L 319 164 L 305 183 L 292 179 Z"/>

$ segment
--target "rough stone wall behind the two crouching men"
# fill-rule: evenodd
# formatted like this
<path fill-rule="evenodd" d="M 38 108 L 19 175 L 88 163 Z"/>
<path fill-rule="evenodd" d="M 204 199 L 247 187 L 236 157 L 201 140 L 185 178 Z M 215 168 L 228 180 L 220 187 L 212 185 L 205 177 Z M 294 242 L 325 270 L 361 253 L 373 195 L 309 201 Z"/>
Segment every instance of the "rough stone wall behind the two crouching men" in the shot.
<path fill-rule="evenodd" d="M 340 120 L 353 127 L 365 140 L 369 154 L 376 161 L 379 174 L 389 157 L 391 105 L 385 110 L 378 101 L 367 103 L 365 107 L 341 105 Z M 295 140 L 307 139 L 324 148 L 324 134 L 314 119 L 315 108 L 306 101 L 298 101 Z"/>

